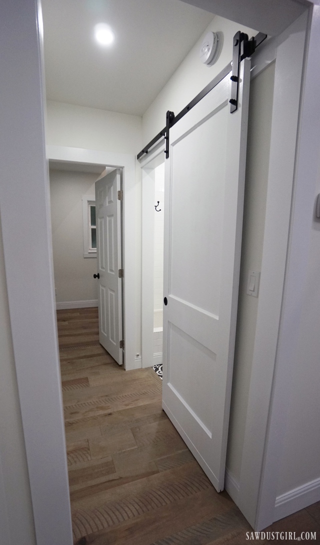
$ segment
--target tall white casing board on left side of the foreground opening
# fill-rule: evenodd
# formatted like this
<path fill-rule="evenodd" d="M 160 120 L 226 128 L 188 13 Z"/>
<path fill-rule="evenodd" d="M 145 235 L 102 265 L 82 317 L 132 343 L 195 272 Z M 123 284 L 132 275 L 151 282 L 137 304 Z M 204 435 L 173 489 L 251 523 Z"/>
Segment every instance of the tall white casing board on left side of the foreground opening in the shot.
<path fill-rule="evenodd" d="M 37 545 L 71 545 L 50 188 L 45 159 L 41 23 L 34 0 L 2 3 L 0 94 L 5 138 L 0 146 L 0 211 L 36 541 Z M 35 202 L 37 214 L 34 214 Z M 37 233 L 37 252 L 34 233 Z M 8 463 L 2 459 L 3 472 Z M 16 517 L 19 516 L 17 511 Z"/>

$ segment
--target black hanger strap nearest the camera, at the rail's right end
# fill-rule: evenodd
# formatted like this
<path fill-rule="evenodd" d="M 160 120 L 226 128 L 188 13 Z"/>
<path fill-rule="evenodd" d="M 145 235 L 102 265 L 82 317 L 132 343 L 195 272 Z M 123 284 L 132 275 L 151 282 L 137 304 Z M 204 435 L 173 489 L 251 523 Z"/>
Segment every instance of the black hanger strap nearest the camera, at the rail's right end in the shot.
<path fill-rule="evenodd" d="M 233 37 L 233 54 L 232 54 L 232 76 L 231 76 L 231 98 L 229 100 L 230 113 L 238 110 L 238 95 L 239 95 L 239 74 L 240 62 L 247 57 L 251 57 L 256 51 L 256 47 L 267 38 L 267 34 L 258 32 L 256 36 L 250 38 L 244 32 L 236 32 Z"/>

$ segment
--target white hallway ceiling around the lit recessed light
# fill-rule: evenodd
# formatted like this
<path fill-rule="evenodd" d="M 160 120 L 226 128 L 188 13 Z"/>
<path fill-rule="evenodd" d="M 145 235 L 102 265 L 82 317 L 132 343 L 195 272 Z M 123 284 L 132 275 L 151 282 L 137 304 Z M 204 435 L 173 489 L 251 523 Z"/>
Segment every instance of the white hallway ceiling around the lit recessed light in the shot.
<path fill-rule="evenodd" d="M 213 19 L 180 0 L 43 0 L 47 99 L 141 116 Z M 96 23 L 116 34 L 93 38 Z"/>

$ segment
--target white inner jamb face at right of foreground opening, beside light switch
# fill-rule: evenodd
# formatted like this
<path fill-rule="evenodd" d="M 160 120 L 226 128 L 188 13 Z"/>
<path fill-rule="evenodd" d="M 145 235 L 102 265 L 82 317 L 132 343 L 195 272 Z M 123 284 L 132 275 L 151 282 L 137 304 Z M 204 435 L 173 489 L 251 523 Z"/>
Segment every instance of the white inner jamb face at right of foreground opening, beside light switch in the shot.
<path fill-rule="evenodd" d="M 273 410 L 274 371 L 281 335 L 306 23 L 307 13 L 283 33 L 285 41 L 279 39 L 276 49 L 261 281 L 237 501 L 257 530 L 274 522 L 274 479 L 281 452 L 279 438 L 269 435 L 269 411 Z M 283 93 L 283 89 L 289 92 Z M 278 422 L 283 418 L 281 411 L 276 416 Z M 264 475 L 268 437 L 268 450 L 274 449 L 276 456 Z"/>

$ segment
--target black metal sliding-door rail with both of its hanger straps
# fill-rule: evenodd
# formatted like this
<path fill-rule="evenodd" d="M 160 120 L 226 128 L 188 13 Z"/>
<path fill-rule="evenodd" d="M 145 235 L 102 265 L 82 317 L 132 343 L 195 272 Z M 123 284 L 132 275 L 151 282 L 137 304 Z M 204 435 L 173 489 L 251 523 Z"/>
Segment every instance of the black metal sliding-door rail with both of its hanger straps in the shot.
<path fill-rule="evenodd" d="M 262 32 L 258 32 L 255 36 L 250 38 L 250 40 L 247 37 L 247 34 L 244 34 L 243 32 L 237 32 L 234 35 L 234 38 L 238 36 L 238 43 L 236 45 L 233 45 L 233 58 L 235 62 L 230 62 L 225 66 L 224 69 L 217 74 L 212 81 L 200 91 L 200 93 L 195 96 L 194 99 L 192 99 L 189 104 L 187 104 L 183 110 L 181 110 L 177 115 L 175 116 L 173 112 L 168 111 L 167 116 L 169 114 L 169 117 L 166 117 L 166 126 L 164 129 L 162 129 L 158 134 L 145 146 L 140 153 L 137 155 L 137 159 L 140 159 L 142 155 L 147 154 L 149 149 L 152 149 L 153 146 L 163 137 L 165 137 L 165 154 L 166 158 L 169 156 L 169 131 L 173 125 L 178 123 L 178 121 L 185 116 L 186 113 L 188 113 L 191 108 L 193 108 L 200 100 L 203 99 L 204 96 L 206 96 L 220 81 L 222 81 L 228 74 L 230 74 L 232 70 L 232 95 L 231 95 L 231 112 L 235 112 L 238 108 L 238 85 L 239 85 L 239 65 L 241 60 L 251 57 L 251 55 L 255 52 L 258 45 L 262 44 L 262 42 L 267 38 L 267 34 L 263 34 Z M 235 40 L 233 38 L 233 44 L 235 43 Z M 236 106 L 236 107 L 234 107 Z"/>

